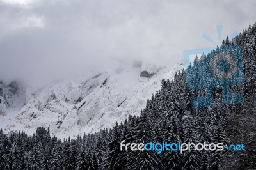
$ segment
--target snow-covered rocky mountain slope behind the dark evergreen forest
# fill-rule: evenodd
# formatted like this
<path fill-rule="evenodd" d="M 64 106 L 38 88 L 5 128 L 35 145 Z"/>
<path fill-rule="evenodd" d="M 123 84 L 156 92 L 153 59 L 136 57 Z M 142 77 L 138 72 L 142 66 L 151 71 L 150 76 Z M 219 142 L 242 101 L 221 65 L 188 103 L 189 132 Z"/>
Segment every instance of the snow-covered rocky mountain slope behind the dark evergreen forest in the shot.
<path fill-rule="evenodd" d="M 33 93 L 19 84 L 13 88 L 2 82 L 0 128 L 5 133 L 32 134 L 37 127 L 50 127 L 60 139 L 111 128 L 129 114 L 139 115 L 147 98 L 160 89 L 161 79 L 172 79 L 182 68 L 179 63 L 157 72 L 150 72 L 150 67 L 116 69 L 87 80 L 52 82 Z M 141 77 L 142 71 L 152 75 Z"/>

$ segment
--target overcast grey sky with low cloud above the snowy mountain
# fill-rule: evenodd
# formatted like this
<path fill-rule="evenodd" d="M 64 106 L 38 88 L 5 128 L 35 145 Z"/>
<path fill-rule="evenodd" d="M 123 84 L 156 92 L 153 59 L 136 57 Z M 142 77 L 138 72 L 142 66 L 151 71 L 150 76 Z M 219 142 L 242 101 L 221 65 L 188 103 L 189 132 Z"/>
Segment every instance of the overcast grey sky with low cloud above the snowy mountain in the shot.
<path fill-rule="evenodd" d="M 256 22 L 256 1 L 0 0 L 0 79 L 104 70 L 134 59 L 172 65 Z"/>

